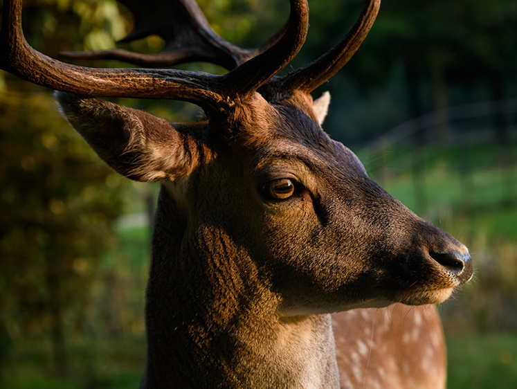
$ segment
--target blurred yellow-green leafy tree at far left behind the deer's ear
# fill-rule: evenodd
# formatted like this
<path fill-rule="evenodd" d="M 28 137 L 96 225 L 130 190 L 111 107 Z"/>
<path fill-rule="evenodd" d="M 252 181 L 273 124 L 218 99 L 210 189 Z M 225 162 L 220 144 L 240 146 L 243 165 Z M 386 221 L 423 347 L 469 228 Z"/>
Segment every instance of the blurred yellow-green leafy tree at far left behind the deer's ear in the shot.
<path fill-rule="evenodd" d="M 51 55 L 78 37 L 76 25 L 89 31 L 88 48 L 112 44 L 106 24 L 123 26 L 113 1 L 32 1 L 24 8 L 26 37 Z M 123 183 L 60 117 L 51 91 L 2 76 L 0 329 L 10 338 L 48 334 L 55 368 L 65 372 L 66 318 L 84 309 L 100 255 L 114 242 Z"/>

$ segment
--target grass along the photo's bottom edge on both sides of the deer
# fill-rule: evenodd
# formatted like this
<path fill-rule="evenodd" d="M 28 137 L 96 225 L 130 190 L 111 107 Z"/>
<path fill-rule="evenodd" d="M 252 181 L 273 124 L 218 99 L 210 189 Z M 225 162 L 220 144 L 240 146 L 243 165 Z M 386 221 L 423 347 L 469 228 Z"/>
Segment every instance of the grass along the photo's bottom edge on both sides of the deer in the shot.
<path fill-rule="evenodd" d="M 448 389 L 517 388 L 517 334 L 451 335 Z M 48 344 L 22 341 L 0 368 L 0 387 L 10 389 L 138 388 L 145 363 L 143 338 L 75 339 L 66 374 L 51 366 Z"/>

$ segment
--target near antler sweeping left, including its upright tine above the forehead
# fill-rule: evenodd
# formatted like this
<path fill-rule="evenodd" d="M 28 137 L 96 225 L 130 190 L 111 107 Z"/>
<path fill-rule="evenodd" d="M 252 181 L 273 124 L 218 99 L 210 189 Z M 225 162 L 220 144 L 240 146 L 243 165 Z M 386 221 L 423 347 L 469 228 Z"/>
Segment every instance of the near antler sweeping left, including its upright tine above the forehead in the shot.
<path fill-rule="evenodd" d="M 0 67 L 35 84 L 84 96 L 170 98 L 221 109 L 228 98 L 256 91 L 300 51 L 309 24 L 307 0 L 290 3 L 287 29 L 278 42 L 226 75 L 209 75 L 172 69 L 96 69 L 54 60 L 26 42 L 21 0 L 4 0 Z"/>

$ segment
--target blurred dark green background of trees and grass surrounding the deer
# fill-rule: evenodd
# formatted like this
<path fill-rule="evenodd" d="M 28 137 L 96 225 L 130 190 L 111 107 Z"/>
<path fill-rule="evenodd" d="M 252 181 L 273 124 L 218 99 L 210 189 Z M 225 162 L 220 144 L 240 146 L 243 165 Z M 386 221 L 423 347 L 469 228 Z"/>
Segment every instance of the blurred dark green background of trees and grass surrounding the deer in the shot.
<path fill-rule="evenodd" d="M 289 12 L 287 0 L 199 4 L 219 35 L 246 47 Z M 309 6 L 307 44 L 289 69 L 341 39 L 363 1 Z M 52 57 L 113 48 L 131 24 L 114 0 L 24 1 L 26 37 Z M 118 46 L 154 53 L 163 42 Z M 471 249 L 473 281 L 439 307 L 449 388 L 517 387 L 516 52 L 515 1 L 385 0 L 359 52 L 314 93 L 332 93 L 324 128 L 370 176 Z M 171 121 L 199 114 L 178 102 L 116 101 Z M 118 177 L 51 91 L 6 73 L 0 155 L 0 387 L 137 387 L 158 188 Z"/>

